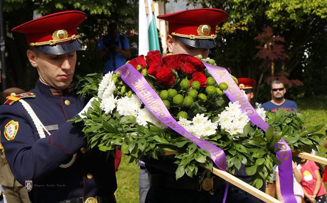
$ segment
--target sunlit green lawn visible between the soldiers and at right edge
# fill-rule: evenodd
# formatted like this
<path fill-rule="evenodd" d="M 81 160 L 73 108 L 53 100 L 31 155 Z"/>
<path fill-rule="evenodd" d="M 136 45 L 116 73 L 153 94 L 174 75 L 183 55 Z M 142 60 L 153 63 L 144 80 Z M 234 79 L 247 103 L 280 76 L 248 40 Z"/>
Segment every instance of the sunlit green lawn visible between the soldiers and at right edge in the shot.
<path fill-rule="evenodd" d="M 319 131 L 325 134 L 327 129 L 327 95 L 314 96 L 310 98 L 301 98 L 296 100 L 300 112 L 305 116 L 306 126 L 315 126 L 325 124 Z M 327 157 L 327 149 L 322 147 L 324 140 L 319 146 L 318 155 Z M 117 172 L 118 189 L 116 191 L 117 202 L 135 203 L 138 202 L 138 165 L 128 163 L 129 157 L 122 156 L 122 161 Z"/>

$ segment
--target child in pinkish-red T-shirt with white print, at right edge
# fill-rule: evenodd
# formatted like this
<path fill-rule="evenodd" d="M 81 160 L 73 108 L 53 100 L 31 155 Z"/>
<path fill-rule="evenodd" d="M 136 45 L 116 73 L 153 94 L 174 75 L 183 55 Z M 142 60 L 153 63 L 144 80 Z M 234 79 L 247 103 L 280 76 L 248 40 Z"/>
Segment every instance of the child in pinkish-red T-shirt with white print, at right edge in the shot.
<path fill-rule="evenodd" d="M 301 185 L 304 190 L 304 201 L 306 203 L 326 203 L 326 189 L 319 174 L 319 167 L 315 162 L 301 159 Z"/>

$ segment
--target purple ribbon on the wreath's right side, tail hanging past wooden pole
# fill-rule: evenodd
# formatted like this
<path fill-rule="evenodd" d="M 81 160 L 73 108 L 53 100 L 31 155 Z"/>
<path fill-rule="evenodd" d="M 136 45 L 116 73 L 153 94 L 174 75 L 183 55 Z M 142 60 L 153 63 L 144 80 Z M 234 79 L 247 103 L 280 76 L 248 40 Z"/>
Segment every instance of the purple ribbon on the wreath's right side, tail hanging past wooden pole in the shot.
<path fill-rule="evenodd" d="M 228 84 L 228 89 L 224 90 L 224 93 L 232 101 L 232 103 L 238 100 L 239 104 L 241 105 L 242 112 L 247 113 L 247 116 L 250 118 L 250 121 L 256 124 L 261 129 L 263 129 L 264 131 L 266 131 L 269 125 L 261 118 L 261 116 L 258 115 L 256 110 L 248 102 L 247 98 L 245 98 L 243 92 L 237 86 L 228 71 L 224 67 L 212 66 L 205 62 L 203 62 L 203 64 L 206 66 L 208 72 L 211 74 L 211 76 L 215 79 L 216 82 L 225 82 Z M 276 156 L 277 159 L 282 162 L 281 165 L 278 165 L 280 191 L 282 198 L 285 203 L 297 202 L 293 190 L 293 165 L 290 148 L 284 139 L 280 139 L 280 141 L 274 146 L 275 148 L 280 149 L 276 153 Z"/>

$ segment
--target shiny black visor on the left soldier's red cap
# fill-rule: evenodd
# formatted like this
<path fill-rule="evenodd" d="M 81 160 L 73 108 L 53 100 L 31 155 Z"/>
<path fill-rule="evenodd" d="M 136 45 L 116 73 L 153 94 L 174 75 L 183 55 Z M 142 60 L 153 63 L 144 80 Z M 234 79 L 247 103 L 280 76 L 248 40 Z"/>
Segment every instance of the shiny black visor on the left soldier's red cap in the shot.
<path fill-rule="evenodd" d="M 44 46 L 37 46 L 37 48 L 46 54 L 53 54 L 53 55 L 61 55 L 61 54 L 67 54 L 74 51 L 79 50 L 81 47 L 81 41 L 80 40 L 74 40 L 69 43 L 65 44 L 59 44 L 59 45 L 44 45 Z"/>

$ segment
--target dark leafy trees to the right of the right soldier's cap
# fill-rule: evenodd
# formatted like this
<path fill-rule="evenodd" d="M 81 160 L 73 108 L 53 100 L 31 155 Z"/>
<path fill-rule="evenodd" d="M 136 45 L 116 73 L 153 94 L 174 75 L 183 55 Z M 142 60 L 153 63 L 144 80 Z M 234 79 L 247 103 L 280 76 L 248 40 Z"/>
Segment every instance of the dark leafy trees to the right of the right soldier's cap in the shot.
<path fill-rule="evenodd" d="M 188 3 L 220 8 L 228 13 L 228 19 L 219 28 L 219 44 L 211 57 L 234 76 L 260 81 L 264 70 L 259 69 L 261 59 L 256 57 L 259 43 L 254 38 L 264 27 L 270 26 L 275 36 L 283 36 L 286 41 L 284 52 L 289 59 L 283 66 L 289 73 L 288 79 L 304 83 L 301 88 L 289 89 L 287 96 L 294 99 L 305 94 L 325 93 L 327 84 L 323 81 L 327 79 L 327 64 L 323 49 L 327 42 L 327 1 L 188 0 Z M 269 92 L 269 86 L 260 82 L 256 100 L 270 99 Z"/>

